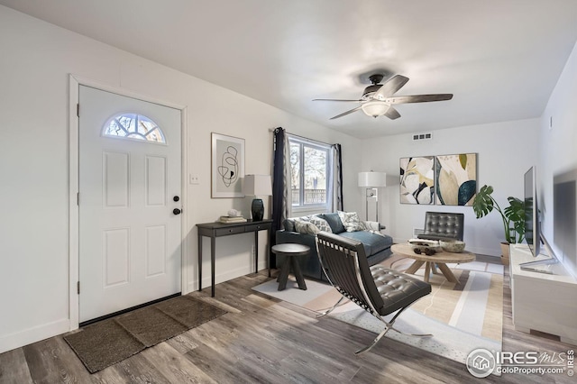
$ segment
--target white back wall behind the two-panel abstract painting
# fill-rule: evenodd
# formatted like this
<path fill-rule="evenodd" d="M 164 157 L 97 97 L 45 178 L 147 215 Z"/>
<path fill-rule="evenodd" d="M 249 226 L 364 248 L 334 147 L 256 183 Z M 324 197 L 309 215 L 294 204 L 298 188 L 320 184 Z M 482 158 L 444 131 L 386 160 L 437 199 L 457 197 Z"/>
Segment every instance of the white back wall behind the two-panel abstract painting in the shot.
<path fill-rule="evenodd" d="M 362 169 L 387 172 L 387 185 L 380 201 L 381 224 L 396 242 L 405 242 L 414 228 L 423 228 L 425 212 L 460 212 L 465 215 L 464 241 L 476 253 L 499 256 L 499 242 L 505 240 L 498 213 L 477 219 L 471 206 L 416 206 L 400 204 L 399 159 L 415 156 L 477 153 L 478 187 L 495 188 L 499 206 L 507 197 L 523 198 L 523 174 L 535 165 L 538 119 L 473 125 L 434 132 L 431 141 L 412 142 L 411 133 L 367 140 Z"/>

